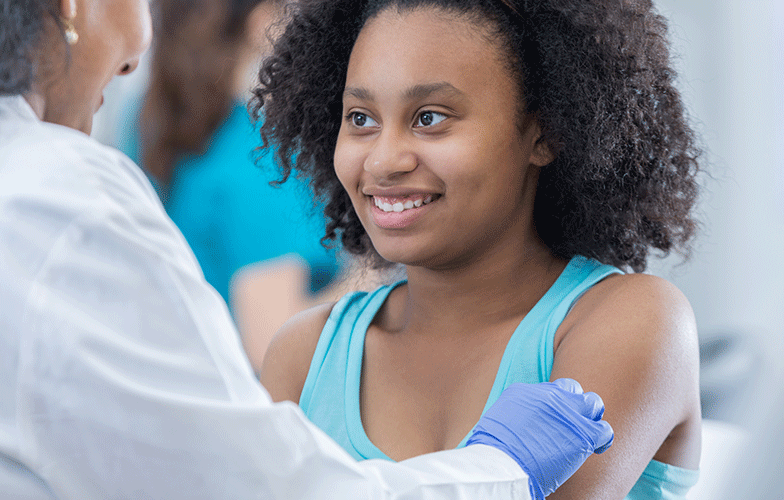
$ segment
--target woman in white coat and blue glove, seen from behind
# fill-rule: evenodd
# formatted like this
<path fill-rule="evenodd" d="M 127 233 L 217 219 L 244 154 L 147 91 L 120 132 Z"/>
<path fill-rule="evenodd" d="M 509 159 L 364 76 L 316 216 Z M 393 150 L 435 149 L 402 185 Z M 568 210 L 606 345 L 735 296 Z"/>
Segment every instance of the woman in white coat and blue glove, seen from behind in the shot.
<path fill-rule="evenodd" d="M 563 380 L 465 449 L 354 462 L 270 402 L 144 174 L 87 135 L 148 0 L 0 0 L 0 27 L 0 497 L 538 499 L 609 445 Z"/>

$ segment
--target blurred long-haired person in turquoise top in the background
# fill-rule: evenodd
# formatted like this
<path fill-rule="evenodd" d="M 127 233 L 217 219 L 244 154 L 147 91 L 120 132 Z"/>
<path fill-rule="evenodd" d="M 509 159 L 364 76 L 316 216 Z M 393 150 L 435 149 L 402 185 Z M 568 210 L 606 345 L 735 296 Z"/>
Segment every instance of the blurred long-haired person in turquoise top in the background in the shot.
<path fill-rule="evenodd" d="M 150 176 L 254 368 L 286 319 L 331 296 L 339 270 L 308 186 L 270 186 L 272 154 L 254 151 L 246 103 L 284 4 L 156 2 L 146 92 L 120 112 L 114 144 Z"/>

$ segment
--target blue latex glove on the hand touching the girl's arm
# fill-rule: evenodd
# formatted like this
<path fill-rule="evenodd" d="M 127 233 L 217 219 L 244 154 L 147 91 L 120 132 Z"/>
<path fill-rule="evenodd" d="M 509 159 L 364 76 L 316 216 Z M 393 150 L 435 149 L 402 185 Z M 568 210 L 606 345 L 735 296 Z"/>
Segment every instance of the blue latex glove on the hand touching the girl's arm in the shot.
<path fill-rule="evenodd" d="M 512 384 L 479 420 L 467 444 L 506 452 L 528 474 L 531 498 L 542 500 L 593 453 L 610 447 L 604 403 L 572 379 Z"/>

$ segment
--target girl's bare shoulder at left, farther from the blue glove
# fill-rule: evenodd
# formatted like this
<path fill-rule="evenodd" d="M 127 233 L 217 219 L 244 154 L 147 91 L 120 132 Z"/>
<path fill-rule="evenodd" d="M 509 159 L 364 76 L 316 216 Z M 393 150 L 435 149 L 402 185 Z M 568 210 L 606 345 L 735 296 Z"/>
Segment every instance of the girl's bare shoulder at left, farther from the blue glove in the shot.
<path fill-rule="evenodd" d="M 273 401 L 299 402 L 313 353 L 334 305 L 320 304 L 294 315 L 270 341 L 260 380 Z"/>

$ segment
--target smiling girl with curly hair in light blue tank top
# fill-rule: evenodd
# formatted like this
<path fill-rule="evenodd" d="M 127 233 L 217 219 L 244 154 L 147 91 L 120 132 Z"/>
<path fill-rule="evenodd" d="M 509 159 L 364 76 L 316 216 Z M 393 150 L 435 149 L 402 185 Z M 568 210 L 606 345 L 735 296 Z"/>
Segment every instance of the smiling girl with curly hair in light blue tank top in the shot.
<path fill-rule="evenodd" d="M 513 382 L 572 377 L 616 432 L 550 498 L 683 498 L 697 334 L 671 284 L 697 151 L 650 1 L 302 2 L 256 90 L 329 238 L 406 279 L 291 319 L 273 398 L 357 458 L 461 446 Z"/>

